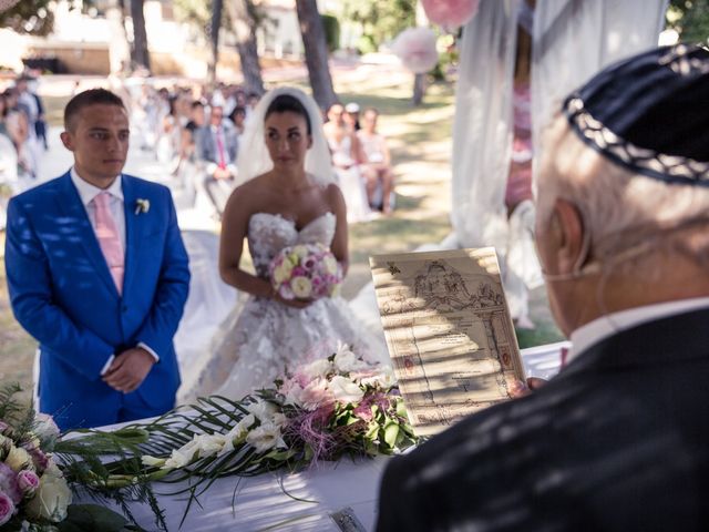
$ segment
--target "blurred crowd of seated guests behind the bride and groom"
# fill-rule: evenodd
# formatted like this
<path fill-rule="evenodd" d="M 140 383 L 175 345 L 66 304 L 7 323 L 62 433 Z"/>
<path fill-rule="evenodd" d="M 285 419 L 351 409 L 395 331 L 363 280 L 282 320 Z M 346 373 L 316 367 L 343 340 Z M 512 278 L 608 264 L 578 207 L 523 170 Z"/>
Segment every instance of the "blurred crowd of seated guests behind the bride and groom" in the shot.
<path fill-rule="evenodd" d="M 132 145 L 154 154 L 187 203 L 218 219 L 237 183 L 236 160 L 259 95 L 219 83 L 155 86 L 151 80 L 123 84 L 131 113 Z M 394 206 L 394 174 L 379 111 L 336 103 L 323 112 L 332 166 L 348 202 L 348 219 L 363 222 Z M 48 150 L 44 105 L 37 81 L 19 76 L 0 94 L 0 228 L 8 200 L 37 183 Z"/>

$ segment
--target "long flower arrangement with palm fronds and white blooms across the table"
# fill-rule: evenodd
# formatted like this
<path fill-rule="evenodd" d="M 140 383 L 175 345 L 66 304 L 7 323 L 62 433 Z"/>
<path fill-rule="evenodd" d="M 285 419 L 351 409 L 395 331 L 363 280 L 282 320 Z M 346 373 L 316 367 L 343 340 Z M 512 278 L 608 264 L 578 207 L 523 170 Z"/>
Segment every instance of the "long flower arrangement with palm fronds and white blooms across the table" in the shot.
<path fill-rule="evenodd" d="M 80 431 L 71 441 L 76 457 L 103 452 L 112 460 L 88 467 L 76 458 L 71 471 L 92 497 L 150 503 L 163 528 L 155 482 L 183 482 L 169 494 L 189 494 L 186 515 L 219 477 L 297 471 L 320 460 L 392 454 L 417 442 L 391 368 L 361 360 L 346 345 L 287 371 L 273 388 L 239 400 L 201 398 L 123 431 L 134 434 L 131 444 L 114 432 Z"/>

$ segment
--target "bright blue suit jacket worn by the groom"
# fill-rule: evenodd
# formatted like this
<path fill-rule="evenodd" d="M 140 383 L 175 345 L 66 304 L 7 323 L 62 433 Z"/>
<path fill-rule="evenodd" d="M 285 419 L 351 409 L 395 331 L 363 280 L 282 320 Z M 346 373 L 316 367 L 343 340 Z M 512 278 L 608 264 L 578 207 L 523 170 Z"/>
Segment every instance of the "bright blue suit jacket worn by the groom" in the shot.
<path fill-rule="evenodd" d="M 125 205 L 123 295 L 113 283 L 69 173 L 10 201 L 6 268 L 18 321 L 40 342 L 40 409 L 62 428 L 113 422 L 137 395 L 168 409 L 179 386 L 173 336 L 187 298 L 189 269 L 169 191 L 122 177 Z M 136 201 L 148 200 L 136 214 Z M 113 354 L 144 342 L 160 356 L 124 396 L 101 380 Z"/>

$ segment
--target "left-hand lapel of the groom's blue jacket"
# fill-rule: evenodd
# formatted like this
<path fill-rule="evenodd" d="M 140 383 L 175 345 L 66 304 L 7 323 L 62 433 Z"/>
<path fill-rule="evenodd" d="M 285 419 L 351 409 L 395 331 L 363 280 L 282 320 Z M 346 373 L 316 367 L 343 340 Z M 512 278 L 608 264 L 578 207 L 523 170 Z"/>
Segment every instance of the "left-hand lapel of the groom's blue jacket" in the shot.
<path fill-rule="evenodd" d="M 91 260 L 96 274 L 106 284 L 110 290 L 119 297 L 119 290 L 115 288 L 113 277 L 109 270 L 109 265 L 103 256 L 99 239 L 96 238 L 86 208 L 81 203 L 79 191 L 71 181 L 71 174 L 66 173 L 61 180 L 62 194 L 56 198 L 60 208 L 64 212 L 69 219 L 75 222 L 76 234 L 81 241 L 81 245 L 86 252 L 86 256 Z"/>

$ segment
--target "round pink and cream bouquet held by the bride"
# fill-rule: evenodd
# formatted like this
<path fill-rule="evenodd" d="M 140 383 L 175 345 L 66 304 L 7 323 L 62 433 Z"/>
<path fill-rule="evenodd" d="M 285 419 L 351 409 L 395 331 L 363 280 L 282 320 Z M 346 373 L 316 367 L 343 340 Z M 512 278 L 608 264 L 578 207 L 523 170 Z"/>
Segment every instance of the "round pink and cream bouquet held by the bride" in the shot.
<path fill-rule="evenodd" d="M 342 282 L 340 266 L 322 244 L 286 247 L 269 266 L 274 289 L 284 299 L 332 297 Z"/>

